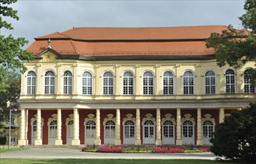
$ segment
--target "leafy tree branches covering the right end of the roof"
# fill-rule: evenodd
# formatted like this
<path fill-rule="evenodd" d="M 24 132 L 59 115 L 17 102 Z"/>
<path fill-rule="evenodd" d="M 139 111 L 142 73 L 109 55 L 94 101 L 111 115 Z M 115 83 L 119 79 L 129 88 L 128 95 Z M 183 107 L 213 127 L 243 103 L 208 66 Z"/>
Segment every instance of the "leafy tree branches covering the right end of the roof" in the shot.
<path fill-rule="evenodd" d="M 246 0 L 246 13 L 240 16 L 244 30 L 236 30 L 231 25 L 222 34 L 212 33 L 206 40 L 207 48 L 216 51 L 217 64 L 222 67 L 239 67 L 249 60 L 256 60 L 256 1 Z M 256 83 L 256 69 L 252 68 L 248 76 Z"/>

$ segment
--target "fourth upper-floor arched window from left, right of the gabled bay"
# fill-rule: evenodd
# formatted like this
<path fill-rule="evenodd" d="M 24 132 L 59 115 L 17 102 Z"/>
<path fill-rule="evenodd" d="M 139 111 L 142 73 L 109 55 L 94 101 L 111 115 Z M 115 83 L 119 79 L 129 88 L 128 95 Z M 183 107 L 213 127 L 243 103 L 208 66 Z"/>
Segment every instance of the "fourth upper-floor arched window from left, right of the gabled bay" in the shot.
<path fill-rule="evenodd" d="M 90 72 L 84 72 L 82 74 L 82 94 L 92 94 L 92 75 Z"/>

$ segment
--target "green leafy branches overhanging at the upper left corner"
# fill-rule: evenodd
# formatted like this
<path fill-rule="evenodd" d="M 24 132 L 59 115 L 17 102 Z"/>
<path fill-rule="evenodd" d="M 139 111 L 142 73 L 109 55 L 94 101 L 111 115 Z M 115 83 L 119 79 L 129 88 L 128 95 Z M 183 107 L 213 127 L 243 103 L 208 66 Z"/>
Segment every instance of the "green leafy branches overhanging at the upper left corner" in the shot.
<path fill-rule="evenodd" d="M 12 30 L 13 27 L 10 23 L 4 21 L 4 17 L 10 17 L 19 20 L 17 16 L 17 10 L 13 10 L 7 5 L 15 3 L 17 0 L 0 0 L 0 31 L 1 28 Z M 0 63 L 1 66 L 5 66 L 9 69 L 19 70 L 24 73 L 26 71 L 25 65 L 21 60 L 33 60 L 34 56 L 31 52 L 25 51 L 22 47 L 27 44 L 28 41 L 23 37 L 15 39 L 12 35 L 7 37 L 0 35 Z M 8 85 L 3 83 L 2 72 L 0 72 L 0 92 L 4 92 Z"/>

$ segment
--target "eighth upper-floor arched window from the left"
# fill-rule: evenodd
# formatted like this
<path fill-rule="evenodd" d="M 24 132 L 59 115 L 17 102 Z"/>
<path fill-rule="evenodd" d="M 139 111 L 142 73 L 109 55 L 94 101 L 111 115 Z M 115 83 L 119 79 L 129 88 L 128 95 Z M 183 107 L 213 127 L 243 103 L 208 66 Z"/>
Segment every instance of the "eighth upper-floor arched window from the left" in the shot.
<path fill-rule="evenodd" d="M 162 87 L 163 95 L 174 94 L 174 75 L 172 72 L 167 71 L 163 74 Z"/>

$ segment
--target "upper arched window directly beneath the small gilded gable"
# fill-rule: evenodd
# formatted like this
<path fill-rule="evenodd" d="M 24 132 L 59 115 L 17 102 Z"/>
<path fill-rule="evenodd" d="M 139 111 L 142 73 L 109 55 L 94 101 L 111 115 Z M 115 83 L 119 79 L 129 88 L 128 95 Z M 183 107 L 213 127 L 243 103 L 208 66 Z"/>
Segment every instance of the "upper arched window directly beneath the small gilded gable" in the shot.
<path fill-rule="evenodd" d="M 55 73 L 47 71 L 44 75 L 44 93 L 55 94 Z"/>

